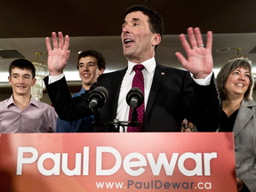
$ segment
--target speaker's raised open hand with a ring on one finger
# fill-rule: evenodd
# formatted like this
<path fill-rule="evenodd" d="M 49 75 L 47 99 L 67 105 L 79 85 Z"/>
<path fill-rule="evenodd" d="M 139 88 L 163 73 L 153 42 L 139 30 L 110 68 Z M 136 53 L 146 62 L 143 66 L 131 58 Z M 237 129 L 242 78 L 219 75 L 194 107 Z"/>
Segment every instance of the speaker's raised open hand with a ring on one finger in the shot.
<path fill-rule="evenodd" d="M 194 34 L 195 32 L 195 34 Z M 202 79 L 212 73 L 212 32 L 207 32 L 207 44 L 204 48 L 203 38 L 199 28 L 188 28 L 188 44 L 186 36 L 180 35 L 180 42 L 188 55 L 188 60 L 180 53 L 176 56 L 180 60 L 183 68 L 186 68 L 196 79 Z"/>

